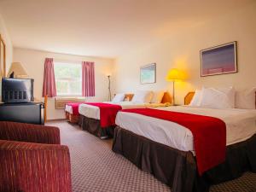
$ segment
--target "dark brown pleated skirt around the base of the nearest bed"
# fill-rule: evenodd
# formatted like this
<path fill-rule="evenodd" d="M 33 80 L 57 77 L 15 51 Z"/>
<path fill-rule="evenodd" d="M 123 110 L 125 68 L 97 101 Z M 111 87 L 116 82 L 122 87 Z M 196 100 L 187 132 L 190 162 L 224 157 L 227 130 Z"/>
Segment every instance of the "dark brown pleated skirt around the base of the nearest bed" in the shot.
<path fill-rule="evenodd" d="M 256 172 L 255 148 L 256 135 L 228 146 L 225 162 L 200 177 L 191 152 L 155 143 L 119 126 L 113 137 L 113 152 L 124 155 L 138 168 L 153 174 L 170 186 L 172 192 L 205 192 L 212 184 L 240 177 L 246 171 Z"/>

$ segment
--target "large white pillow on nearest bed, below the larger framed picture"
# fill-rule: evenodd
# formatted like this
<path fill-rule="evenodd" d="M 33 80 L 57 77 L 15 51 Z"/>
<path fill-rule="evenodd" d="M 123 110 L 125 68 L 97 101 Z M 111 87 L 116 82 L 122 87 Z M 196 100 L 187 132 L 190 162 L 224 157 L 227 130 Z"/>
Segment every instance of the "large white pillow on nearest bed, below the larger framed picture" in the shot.
<path fill-rule="evenodd" d="M 201 90 L 202 108 L 235 108 L 235 90 L 227 88 L 203 88 Z"/>

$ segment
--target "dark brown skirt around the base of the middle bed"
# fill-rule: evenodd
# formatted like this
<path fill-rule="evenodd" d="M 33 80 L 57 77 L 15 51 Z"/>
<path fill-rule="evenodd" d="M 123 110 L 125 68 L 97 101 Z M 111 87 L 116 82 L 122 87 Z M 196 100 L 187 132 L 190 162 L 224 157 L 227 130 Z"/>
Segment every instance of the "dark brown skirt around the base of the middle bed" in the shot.
<path fill-rule="evenodd" d="M 84 115 L 79 116 L 79 125 L 84 131 L 88 131 L 96 137 L 102 139 L 112 138 L 114 126 L 102 128 L 101 122 L 98 119 L 91 119 Z"/>

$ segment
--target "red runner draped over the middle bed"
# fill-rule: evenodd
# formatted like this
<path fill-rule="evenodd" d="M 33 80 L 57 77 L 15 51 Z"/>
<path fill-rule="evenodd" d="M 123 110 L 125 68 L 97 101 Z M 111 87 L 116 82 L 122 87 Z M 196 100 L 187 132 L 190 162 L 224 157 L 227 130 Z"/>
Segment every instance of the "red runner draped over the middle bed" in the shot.
<path fill-rule="evenodd" d="M 108 104 L 104 102 L 86 102 L 88 105 L 93 105 L 100 108 L 100 119 L 102 128 L 115 125 L 115 117 L 119 110 L 122 109 L 119 105 Z"/>

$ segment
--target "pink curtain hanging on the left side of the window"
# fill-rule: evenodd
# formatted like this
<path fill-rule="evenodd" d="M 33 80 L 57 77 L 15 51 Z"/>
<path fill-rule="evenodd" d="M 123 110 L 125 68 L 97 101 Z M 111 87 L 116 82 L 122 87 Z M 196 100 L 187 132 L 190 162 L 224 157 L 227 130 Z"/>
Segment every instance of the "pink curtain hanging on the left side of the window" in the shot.
<path fill-rule="evenodd" d="M 52 58 L 46 58 L 44 61 L 43 96 L 56 96 L 55 69 Z"/>

